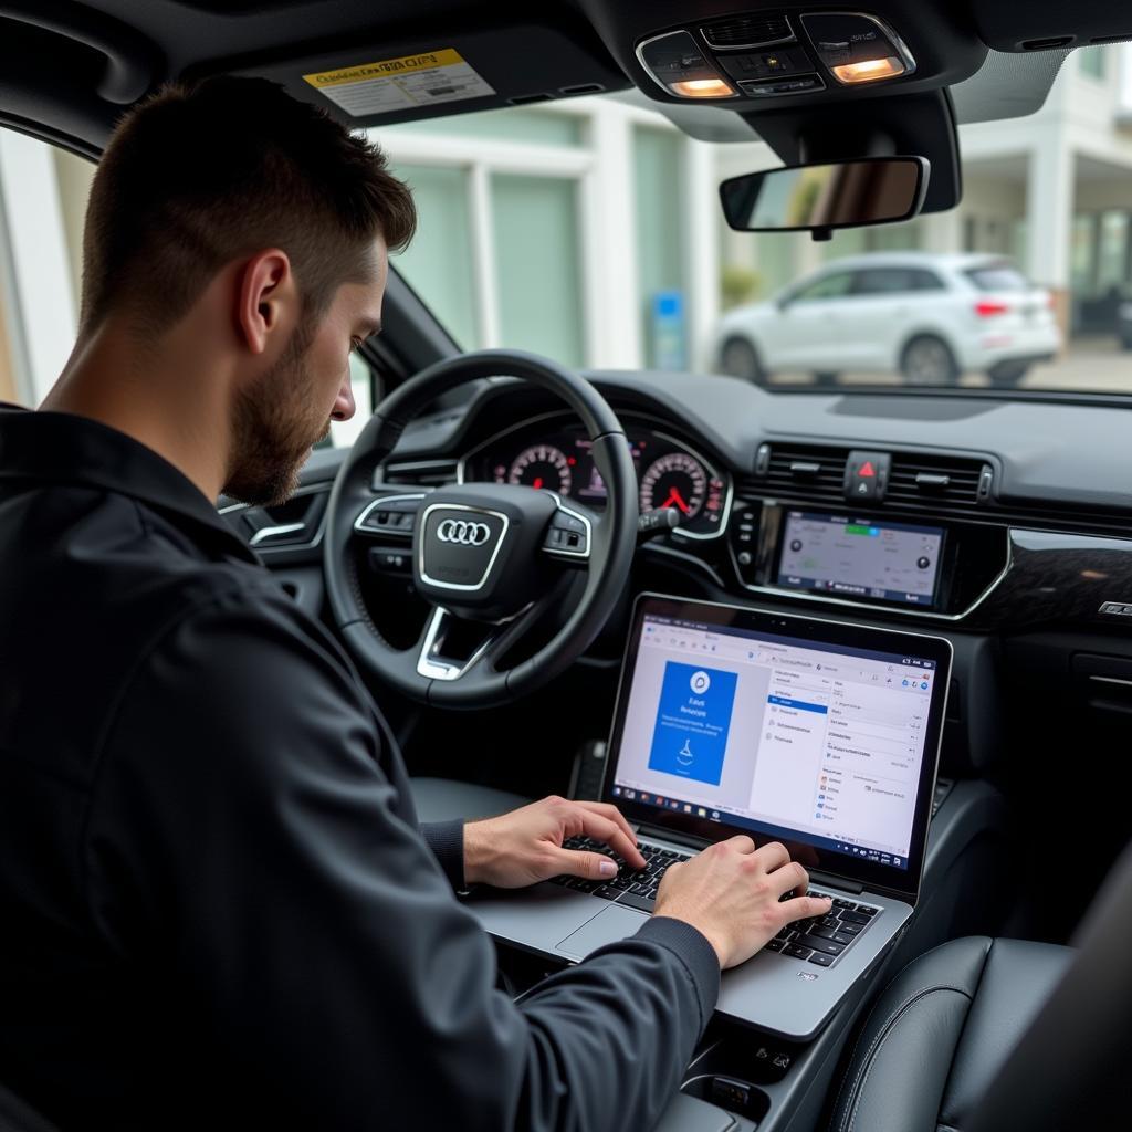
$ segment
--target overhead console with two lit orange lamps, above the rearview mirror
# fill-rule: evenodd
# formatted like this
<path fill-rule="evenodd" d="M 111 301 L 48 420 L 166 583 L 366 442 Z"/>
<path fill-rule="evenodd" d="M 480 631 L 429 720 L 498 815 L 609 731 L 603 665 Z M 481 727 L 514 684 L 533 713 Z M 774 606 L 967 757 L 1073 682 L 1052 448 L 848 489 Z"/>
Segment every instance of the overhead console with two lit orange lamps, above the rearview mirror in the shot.
<path fill-rule="evenodd" d="M 580 3 L 610 54 L 674 118 L 676 108 L 685 115 L 738 114 L 787 165 L 865 154 L 923 157 L 931 177 L 919 211 L 958 203 L 947 88 L 974 75 L 987 54 L 966 7 L 946 0 L 868 0 L 864 10 L 790 0 Z"/>

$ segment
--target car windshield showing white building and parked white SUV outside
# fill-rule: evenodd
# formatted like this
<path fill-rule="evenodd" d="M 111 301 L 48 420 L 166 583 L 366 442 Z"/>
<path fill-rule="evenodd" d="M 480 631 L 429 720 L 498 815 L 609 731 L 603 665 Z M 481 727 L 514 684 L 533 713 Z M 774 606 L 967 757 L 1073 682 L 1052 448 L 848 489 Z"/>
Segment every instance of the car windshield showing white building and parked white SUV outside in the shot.
<path fill-rule="evenodd" d="M 727 229 L 720 181 L 770 148 L 618 95 L 379 128 L 420 207 L 394 265 L 465 349 L 796 389 L 1132 392 L 1129 58 L 1073 52 L 1036 113 L 960 125 L 958 208 L 826 242 Z"/>

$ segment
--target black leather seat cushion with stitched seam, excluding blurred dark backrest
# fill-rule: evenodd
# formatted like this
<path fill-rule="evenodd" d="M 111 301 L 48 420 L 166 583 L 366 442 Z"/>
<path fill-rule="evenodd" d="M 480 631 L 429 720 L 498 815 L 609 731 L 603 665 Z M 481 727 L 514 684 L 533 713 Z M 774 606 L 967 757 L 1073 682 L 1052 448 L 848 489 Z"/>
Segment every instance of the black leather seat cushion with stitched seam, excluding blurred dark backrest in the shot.
<path fill-rule="evenodd" d="M 831 1132 L 966 1132 L 1073 954 L 975 936 L 909 963 L 857 1037 Z"/>

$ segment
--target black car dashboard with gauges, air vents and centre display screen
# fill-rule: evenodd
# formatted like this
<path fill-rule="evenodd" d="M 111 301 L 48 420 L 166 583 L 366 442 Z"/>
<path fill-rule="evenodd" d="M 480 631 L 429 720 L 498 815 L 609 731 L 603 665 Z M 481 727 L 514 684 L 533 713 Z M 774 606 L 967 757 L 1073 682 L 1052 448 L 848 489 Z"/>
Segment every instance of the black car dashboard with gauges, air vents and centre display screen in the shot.
<path fill-rule="evenodd" d="M 640 549 L 652 588 L 976 632 L 1132 624 L 1132 497 L 1099 466 L 1129 455 L 1125 412 L 586 376 L 625 427 L 641 509 L 680 513 Z M 604 506 L 582 426 L 518 384 L 408 430 L 385 474 Z"/>

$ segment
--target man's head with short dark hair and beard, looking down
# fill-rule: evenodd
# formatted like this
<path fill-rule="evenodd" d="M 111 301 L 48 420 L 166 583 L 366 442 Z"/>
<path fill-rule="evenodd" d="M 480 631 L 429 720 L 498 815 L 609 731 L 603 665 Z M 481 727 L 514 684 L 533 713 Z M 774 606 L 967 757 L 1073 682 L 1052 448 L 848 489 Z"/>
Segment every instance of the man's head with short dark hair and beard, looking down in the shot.
<path fill-rule="evenodd" d="M 238 375 L 225 490 L 276 501 L 331 418 L 352 414 L 349 350 L 377 328 L 386 249 L 414 225 L 380 152 L 281 87 L 166 87 L 95 175 L 79 340 L 113 320 L 160 342 L 220 285 Z"/>

